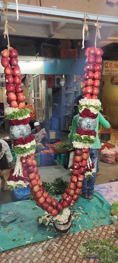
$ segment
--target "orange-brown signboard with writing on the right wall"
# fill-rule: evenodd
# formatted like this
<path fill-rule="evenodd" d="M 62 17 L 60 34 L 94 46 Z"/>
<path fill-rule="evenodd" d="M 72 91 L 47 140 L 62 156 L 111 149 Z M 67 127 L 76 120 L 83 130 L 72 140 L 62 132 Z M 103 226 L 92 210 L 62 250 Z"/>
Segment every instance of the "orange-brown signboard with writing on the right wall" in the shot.
<path fill-rule="evenodd" d="M 118 61 L 103 60 L 102 75 L 118 76 Z"/>

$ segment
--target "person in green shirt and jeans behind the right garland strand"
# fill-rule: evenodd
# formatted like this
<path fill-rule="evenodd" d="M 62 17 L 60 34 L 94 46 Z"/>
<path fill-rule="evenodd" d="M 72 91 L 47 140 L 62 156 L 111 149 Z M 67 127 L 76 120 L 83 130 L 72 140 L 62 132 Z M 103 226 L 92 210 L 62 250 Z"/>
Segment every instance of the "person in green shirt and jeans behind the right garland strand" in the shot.
<path fill-rule="evenodd" d="M 73 134 L 76 133 L 76 129 L 78 128 L 77 122 L 78 122 L 79 114 L 73 117 L 72 120 L 72 127 L 71 127 L 71 132 L 69 135 L 69 142 L 72 143 L 73 140 Z M 96 127 L 95 127 L 95 132 L 96 132 L 96 137 L 95 137 L 95 142 L 90 148 L 89 154 L 90 154 L 90 159 L 92 162 L 94 162 L 94 167 L 96 169 L 97 166 L 97 159 L 98 159 L 98 149 L 101 148 L 100 141 L 98 138 L 98 125 L 99 123 L 105 128 L 109 129 L 110 124 L 108 121 L 104 119 L 104 117 L 101 115 L 101 113 L 98 113 L 97 118 L 96 118 Z M 94 184 L 95 184 L 95 178 L 96 178 L 96 172 L 92 174 L 92 177 L 88 179 L 88 181 L 84 178 L 83 181 L 83 186 L 82 186 L 82 196 L 84 198 L 91 199 L 93 195 L 93 190 L 94 190 Z"/>

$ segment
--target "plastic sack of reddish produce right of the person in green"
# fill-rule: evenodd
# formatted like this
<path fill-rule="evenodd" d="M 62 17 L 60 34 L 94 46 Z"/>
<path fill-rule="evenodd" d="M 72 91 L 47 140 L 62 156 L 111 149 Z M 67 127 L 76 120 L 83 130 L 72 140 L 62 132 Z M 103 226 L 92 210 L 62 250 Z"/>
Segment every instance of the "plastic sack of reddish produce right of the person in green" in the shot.
<path fill-rule="evenodd" d="M 115 152 L 113 152 L 111 149 L 107 149 L 106 147 L 101 151 L 101 160 L 106 163 L 114 163 L 115 156 Z"/>

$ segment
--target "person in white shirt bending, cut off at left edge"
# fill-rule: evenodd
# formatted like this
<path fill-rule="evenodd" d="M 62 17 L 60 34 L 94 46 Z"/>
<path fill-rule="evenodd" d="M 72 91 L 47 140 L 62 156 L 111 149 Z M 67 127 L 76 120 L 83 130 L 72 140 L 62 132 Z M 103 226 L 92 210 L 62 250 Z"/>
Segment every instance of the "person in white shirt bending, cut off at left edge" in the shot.
<path fill-rule="evenodd" d="M 13 158 L 10 152 L 7 142 L 0 139 L 0 177 L 3 177 L 3 170 L 8 169 L 8 163 L 10 163 L 11 169 L 13 169 Z"/>

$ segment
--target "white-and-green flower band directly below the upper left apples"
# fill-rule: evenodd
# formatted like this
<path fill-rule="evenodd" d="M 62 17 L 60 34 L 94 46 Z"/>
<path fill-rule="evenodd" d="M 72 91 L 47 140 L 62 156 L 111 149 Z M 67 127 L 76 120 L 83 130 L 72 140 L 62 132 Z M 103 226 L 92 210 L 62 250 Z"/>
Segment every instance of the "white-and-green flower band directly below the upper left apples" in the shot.
<path fill-rule="evenodd" d="M 8 119 L 8 120 L 14 120 L 14 119 L 17 119 L 17 120 L 20 120 L 24 117 L 30 117 L 30 110 L 29 109 L 22 109 L 22 110 L 19 110 L 19 109 L 14 109 L 14 108 L 11 108 L 11 110 L 9 111 L 10 108 L 6 108 L 5 109 L 5 117 Z M 28 115 L 28 116 L 27 116 Z"/>

